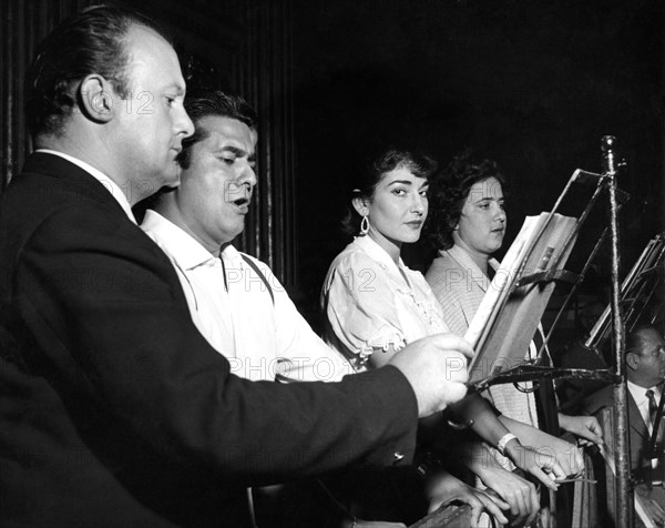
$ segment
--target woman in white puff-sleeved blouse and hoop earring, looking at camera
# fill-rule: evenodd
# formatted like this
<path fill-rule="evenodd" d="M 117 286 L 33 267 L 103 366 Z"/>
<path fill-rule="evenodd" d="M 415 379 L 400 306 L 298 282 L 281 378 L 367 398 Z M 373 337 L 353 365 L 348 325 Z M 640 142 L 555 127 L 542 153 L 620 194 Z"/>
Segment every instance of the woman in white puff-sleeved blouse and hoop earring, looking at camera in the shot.
<path fill-rule="evenodd" d="M 428 214 L 429 179 L 436 163 L 413 152 L 390 150 L 378 156 L 354 190 L 346 224 L 351 242 L 332 262 L 324 283 L 321 306 L 325 338 L 358 370 L 380 367 L 406 344 L 427 335 L 449 332 L 423 276 L 400 258 L 405 243 L 418 241 Z M 483 398 L 466 398 L 463 420 L 498 446 L 522 469 L 545 486 L 556 488 L 541 467 L 565 475 L 557 460 L 523 447 Z M 512 512 L 532 519 L 538 499 L 532 485 L 512 475 L 498 476 L 484 467 L 485 477 L 511 506 Z M 481 477 L 482 478 L 482 477 Z M 501 516 L 502 517 L 502 516 Z"/>

